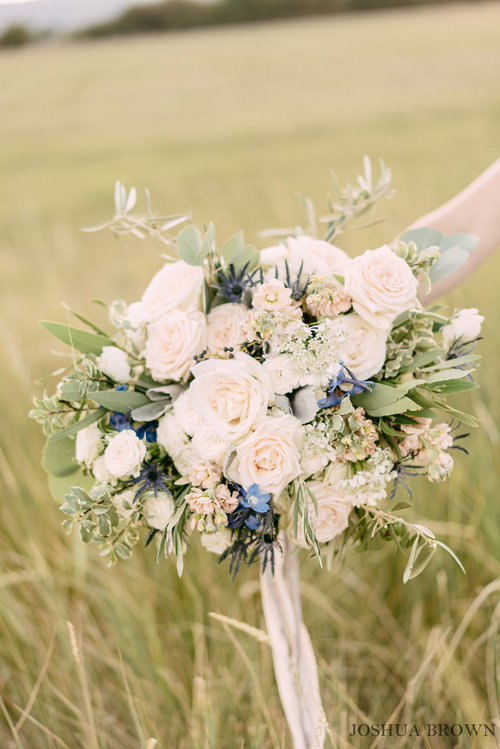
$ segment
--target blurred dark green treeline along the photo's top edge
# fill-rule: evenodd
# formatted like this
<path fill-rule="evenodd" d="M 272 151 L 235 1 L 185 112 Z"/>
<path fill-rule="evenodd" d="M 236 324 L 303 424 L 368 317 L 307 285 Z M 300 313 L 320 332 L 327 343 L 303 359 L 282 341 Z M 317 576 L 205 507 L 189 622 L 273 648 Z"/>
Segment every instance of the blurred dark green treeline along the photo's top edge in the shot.
<path fill-rule="evenodd" d="M 189 0 L 140 5 L 117 18 L 77 32 L 80 37 L 141 34 L 220 26 L 279 18 L 326 15 L 346 11 L 405 5 L 437 4 L 447 0 L 218 0 L 201 4 Z"/>

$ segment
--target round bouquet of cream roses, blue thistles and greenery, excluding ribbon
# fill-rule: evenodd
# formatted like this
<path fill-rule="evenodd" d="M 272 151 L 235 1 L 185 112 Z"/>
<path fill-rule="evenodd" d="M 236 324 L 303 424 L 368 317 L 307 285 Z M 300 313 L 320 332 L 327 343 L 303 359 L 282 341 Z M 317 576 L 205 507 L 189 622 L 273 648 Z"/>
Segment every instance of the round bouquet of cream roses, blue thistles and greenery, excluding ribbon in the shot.
<path fill-rule="evenodd" d="M 179 573 L 198 535 L 232 574 L 256 560 L 272 569 L 283 534 L 321 564 L 393 541 L 405 581 L 438 546 L 452 554 L 403 511 L 408 478 L 447 479 L 461 424 L 474 425 L 450 396 L 475 387 L 483 318 L 426 309 L 418 292 L 475 238 L 417 229 L 349 257 L 333 241 L 389 185 L 365 160 L 331 198 L 323 238 L 305 201 L 307 228 L 276 230 L 259 252 L 242 233 L 219 243 L 212 224 L 136 217 L 135 190 L 117 184 L 107 226 L 156 239 L 166 262 L 139 301 L 109 305 L 112 332 L 76 313 L 79 327 L 43 323 L 71 348 L 32 411 L 68 533 L 78 526 L 110 563 L 143 538 Z"/>

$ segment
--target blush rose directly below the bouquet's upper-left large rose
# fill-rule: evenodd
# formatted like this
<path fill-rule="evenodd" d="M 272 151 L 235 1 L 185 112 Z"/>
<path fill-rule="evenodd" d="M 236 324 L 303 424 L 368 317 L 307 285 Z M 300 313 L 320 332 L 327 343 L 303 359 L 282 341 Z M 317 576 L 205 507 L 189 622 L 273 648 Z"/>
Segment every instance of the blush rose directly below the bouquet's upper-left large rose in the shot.
<path fill-rule="evenodd" d="M 155 380 L 186 380 L 206 341 L 206 318 L 202 312 L 169 312 L 148 325 L 144 350 L 146 367 Z"/>

